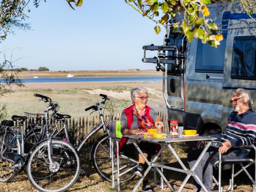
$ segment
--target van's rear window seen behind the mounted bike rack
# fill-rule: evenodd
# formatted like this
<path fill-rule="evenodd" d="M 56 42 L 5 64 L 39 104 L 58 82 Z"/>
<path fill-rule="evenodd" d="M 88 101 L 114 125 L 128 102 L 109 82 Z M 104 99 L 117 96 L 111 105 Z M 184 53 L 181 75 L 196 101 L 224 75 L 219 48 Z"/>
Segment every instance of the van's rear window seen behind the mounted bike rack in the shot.
<path fill-rule="evenodd" d="M 182 43 L 182 34 L 170 35 L 169 45 L 181 46 Z M 172 56 L 173 52 L 168 52 L 169 56 Z M 180 52 L 179 52 L 180 54 Z M 175 54 L 176 56 L 176 54 Z M 181 72 L 179 69 L 176 69 L 174 65 L 167 64 L 167 75 L 177 75 L 180 76 Z"/>

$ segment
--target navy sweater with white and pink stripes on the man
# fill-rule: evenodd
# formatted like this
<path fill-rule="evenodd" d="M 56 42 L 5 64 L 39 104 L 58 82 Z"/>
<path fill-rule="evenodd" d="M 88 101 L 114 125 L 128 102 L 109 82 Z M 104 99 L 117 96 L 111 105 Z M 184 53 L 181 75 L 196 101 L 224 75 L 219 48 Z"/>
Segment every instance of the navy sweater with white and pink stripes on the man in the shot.
<path fill-rule="evenodd" d="M 238 115 L 231 112 L 228 117 L 226 130 L 223 133 L 211 135 L 217 137 L 218 141 L 230 141 L 232 150 L 236 151 L 240 158 L 246 158 L 249 149 L 237 149 L 235 146 L 250 145 L 256 138 L 256 113 L 250 108 L 248 111 Z M 221 144 L 218 144 L 220 146 Z"/>

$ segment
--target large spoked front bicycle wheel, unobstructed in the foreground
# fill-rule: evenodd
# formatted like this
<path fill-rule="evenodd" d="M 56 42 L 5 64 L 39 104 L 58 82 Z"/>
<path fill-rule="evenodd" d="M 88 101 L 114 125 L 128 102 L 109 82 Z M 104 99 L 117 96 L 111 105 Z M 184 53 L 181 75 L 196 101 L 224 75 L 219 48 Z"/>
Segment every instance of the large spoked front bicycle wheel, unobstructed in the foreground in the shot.
<path fill-rule="evenodd" d="M 52 140 L 51 146 L 56 168 L 50 165 L 47 141 L 42 142 L 29 157 L 28 179 L 42 192 L 63 192 L 68 190 L 80 175 L 80 156 L 74 146 L 68 142 Z"/>

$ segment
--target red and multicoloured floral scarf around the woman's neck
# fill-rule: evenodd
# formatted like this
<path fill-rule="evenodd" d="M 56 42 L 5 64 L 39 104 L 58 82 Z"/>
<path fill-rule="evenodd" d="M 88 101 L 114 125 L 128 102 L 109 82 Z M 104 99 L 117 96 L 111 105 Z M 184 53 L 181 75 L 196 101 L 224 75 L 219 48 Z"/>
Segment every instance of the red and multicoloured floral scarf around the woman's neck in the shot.
<path fill-rule="evenodd" d="M 138 110 L 135 105 L 133 106 L 133 114 L 138 119 L 138 128 L 142 129 L 144 132 L 147 132 L 148 129 L 155 128 L 154 123 L 152 123 L 145 115 L 146 108 L 142 110 L 141 115 L 139 115 Z"/>

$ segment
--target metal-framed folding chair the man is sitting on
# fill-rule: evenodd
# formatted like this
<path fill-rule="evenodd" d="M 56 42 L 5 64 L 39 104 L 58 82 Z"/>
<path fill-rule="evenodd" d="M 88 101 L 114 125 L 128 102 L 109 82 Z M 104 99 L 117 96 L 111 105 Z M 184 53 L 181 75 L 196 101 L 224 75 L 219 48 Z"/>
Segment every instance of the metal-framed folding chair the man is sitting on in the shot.
<path fill-rule="evenodd" d="M 245 172 L 246 175 L 248 176 L 248 178 L 251 180 L 252 182 L 252 187 L 253 187 L 253 192 L 256 192 L 255 189 L 255 181 L 256 181 L 256 147 L 254 146 L 254 144 L 251 145 L 246 145 L 246 146 L 238 146 L 237 148 L 247 148 L 247 149 L 251 149 L 250 150 L 250 154 L 253 154 L 252 157 L 250 157 L 248 155 L 248 157 L 246 157 L 245 159 L 225 159 L 222 160 L 222 154 L 219 153 L 219 160 L 214 164 L 214 166 L 218 165 L 218 181 L 216 180 L 216 178 L 213 176 L 213 180 L 214 182 L 218 185 L 218 192 L 227 192 L 231 189 L 231 191 L 234 190 L 234 178 L 236 176 L 238 176 L 241 172 Z M 244 166 L 243 163 L 246 163 L 246 166 Z M 228 189 L 224 190 L 223 187 L 221 186 L 221 166 L 222 164 L 231 164 L 231 179 L 229 180 L 229 186 Z M 241 166 L 241 170 L 239 170 L 238 172 L 236 172 L 234 174 L 234 165 L 235 164 L 239 164 Z M 252 178 L 252 176 L 249 174 L 249 172 L 247 171 L 246 168 L 248 168 L 251 164 L 254 164 L 254 179 Z M 214 191 L 212 191 L 214 192 Z"/>

